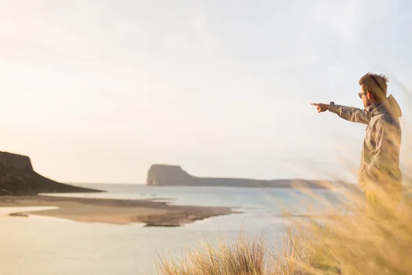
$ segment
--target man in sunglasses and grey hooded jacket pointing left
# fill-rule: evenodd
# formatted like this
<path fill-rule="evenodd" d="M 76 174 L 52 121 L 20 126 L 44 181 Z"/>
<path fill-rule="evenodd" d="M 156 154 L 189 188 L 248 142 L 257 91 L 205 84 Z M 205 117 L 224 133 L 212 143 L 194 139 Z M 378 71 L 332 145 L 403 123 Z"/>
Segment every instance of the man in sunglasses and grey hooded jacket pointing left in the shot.
<path fill-rule="evenodd" d="M 365 191 L 367 210 L 395 210 L 402 199 L 399 168 L 401 129 L 400 107 L 393 96 L 387 97 L 388 79 L 367 73 L 359 80 L 365 109 L 312 103 L 318 113 L 330 111 L 351 122 L 366 124 L 358 184 Z"/>

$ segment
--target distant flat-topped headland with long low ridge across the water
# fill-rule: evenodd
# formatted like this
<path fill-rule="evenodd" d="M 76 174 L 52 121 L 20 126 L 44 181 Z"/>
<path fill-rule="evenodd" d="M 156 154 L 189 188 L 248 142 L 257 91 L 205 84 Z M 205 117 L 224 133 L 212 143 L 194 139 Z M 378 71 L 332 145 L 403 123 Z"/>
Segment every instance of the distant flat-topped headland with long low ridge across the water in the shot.
<path fill-rule="evenodd" d="M 151 186 L 229 186 L 255 188 L 331 188 L 330 181 L 306 179 L 236 179 L 194 177 L 180 166 L 155 164 L 148 170 L 146 185 Z"/>

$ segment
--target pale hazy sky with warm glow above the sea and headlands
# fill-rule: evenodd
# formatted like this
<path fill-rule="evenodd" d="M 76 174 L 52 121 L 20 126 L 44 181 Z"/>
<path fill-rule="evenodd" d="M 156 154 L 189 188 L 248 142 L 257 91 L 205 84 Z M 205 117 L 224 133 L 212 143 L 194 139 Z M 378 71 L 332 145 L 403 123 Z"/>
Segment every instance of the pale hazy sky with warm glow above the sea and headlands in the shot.
<path fill-rule="evenodd" d="M 352 181 L 365 126 L 310 103 L 363 107 L 376 72 L 406 165 L 411 25 L 406 0 L 0 0 L 0 151 L 73 183 L 144 183 L 151 164 Z"/>

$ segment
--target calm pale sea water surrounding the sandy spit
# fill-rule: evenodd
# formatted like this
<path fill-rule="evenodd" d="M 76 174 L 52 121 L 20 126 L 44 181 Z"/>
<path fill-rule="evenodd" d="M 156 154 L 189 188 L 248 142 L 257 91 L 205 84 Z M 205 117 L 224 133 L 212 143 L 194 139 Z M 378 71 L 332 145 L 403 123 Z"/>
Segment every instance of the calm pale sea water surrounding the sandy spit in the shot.
<path fill-rule="evenodd" d="M 0 275 L 159 274 L 161 259 L 179 262 L 202 242 L 236 240 L 264 234 L 276 245 L 290 222 L 286 212 L 330 214 L 341 199 L 327 190 L 82 184 L 102 193 L 63 197 L 155 199 L 182 206 L 227 206 L 236 214 L 211 217 L 176 228 L 144 224 L 80 223 L 7 214 L 50 208 L 0 208 Z"/>

